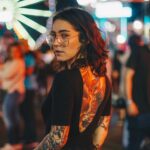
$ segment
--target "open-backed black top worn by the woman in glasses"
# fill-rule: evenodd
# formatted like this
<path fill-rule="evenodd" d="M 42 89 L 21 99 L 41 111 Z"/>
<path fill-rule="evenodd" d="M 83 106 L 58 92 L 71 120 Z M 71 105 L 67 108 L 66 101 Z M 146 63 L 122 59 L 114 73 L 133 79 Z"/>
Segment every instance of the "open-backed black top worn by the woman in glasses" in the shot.
<path fill-rule="evenodd" d="M 105 100 L 100 105 L 95 118 L 87 129 L 79 132 L 79 119 L 83 96 L 83 80 L 79 69 L 65 70 L 56 74 L 52 89 L 45 100 L 42 113 L 46 124 L 46 134 L 51 125 L 70 125 L 67 144 L 64 149 L 93 149 L 92 135 L 101 115 L 110 115 L 110 85 L 107 78 Z"/>

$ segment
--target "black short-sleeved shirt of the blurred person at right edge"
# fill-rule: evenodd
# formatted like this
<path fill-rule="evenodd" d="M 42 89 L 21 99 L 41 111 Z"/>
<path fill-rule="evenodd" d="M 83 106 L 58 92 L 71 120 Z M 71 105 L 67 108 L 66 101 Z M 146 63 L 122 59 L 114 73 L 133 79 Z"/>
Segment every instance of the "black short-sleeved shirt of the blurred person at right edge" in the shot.
<path fill-rule="evenodd" d="M 146 45 L 131 54 L 127 67 L 135 70 L 133 100 L 141 113 L 150 112 L 150 50 Z"/>

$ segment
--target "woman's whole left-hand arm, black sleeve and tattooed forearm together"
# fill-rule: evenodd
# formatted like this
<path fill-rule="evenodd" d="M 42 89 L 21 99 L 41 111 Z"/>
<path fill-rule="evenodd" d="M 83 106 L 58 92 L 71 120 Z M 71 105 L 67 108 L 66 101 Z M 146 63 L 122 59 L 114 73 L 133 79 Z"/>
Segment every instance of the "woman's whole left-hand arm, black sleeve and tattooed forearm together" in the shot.
<path fill-rule="evenodd" d="M 60 150 L 67 143 L 74 107 L 74 90 L 68 72 L 60 72 L 53 81 L 51 129 L 35 150 Z"/>

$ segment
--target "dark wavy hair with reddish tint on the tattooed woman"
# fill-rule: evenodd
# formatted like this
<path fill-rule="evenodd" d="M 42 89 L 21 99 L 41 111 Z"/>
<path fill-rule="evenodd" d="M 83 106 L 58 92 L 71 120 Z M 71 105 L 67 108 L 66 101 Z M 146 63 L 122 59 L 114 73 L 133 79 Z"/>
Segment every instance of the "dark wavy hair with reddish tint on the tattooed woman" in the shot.
<path fill-rule="evenodd" d="M 88 64 L 94 73 L 100 76 L 104 75 L 108 51 L 92 16 L 79 8 L 67 8 L 56 13 L 53 22 L 57 19 L 69 22 L 80 33 L 79 40 L 83 45 L 81 51 L 86 53 Z"/>

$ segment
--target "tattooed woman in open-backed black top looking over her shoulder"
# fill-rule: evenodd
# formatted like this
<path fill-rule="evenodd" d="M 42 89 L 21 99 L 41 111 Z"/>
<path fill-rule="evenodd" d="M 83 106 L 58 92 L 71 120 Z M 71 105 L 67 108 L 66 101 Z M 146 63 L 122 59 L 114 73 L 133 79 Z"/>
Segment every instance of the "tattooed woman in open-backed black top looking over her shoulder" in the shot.
<path fill-rule="evenodd" d="M 46 136 L 36 150 L 100 149 L 110 121 L 107 51 L 93 18 L 77 8 L 58 12 L 48 37 L 59 62 L 43 104 Z"/>

